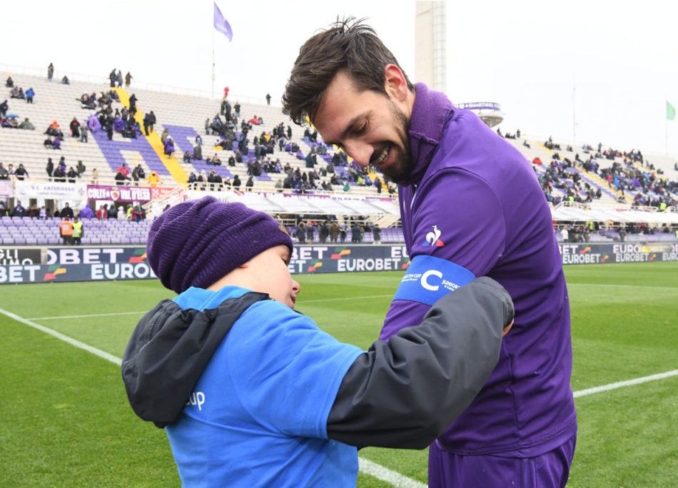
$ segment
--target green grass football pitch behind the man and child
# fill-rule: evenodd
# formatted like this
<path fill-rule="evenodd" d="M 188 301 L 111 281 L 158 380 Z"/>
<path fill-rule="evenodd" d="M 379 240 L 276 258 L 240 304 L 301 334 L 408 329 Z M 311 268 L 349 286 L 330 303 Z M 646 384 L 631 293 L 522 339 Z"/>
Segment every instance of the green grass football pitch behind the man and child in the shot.
<path fill-rule="evenodd" d="M 678 369 L 678 263 L 565 268 L 576 391 Z M 400 273 L 296 276 L 298 310 L 345 342 L 375 340 Z M 0 308 L 121 357 L 158 281 L 0 286 Z M 86 315 L 83 317 L 82 315 Z M 0 487 L 178 487 L 165 434 L 128 406 L 118 366 L 0 315 Z M 678 486 L 678 377 L 575 400 L 572 487 Z M 427 452 L 360 457 L 426 482 Z M 359 487 L 392 486 L 368 474 Z"/>

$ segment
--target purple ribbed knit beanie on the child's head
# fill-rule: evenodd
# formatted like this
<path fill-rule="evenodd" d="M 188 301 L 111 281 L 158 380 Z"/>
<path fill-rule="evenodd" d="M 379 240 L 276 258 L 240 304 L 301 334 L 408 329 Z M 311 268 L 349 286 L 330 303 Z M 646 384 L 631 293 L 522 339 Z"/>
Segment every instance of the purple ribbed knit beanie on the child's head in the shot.
<path fill-rule="evenodd" d="M 166 288 L 208 288 L 239 265 L 292 238 L 270 215 L 206 196 L 158 217 L 146 244 L 148 264 Z"/>

